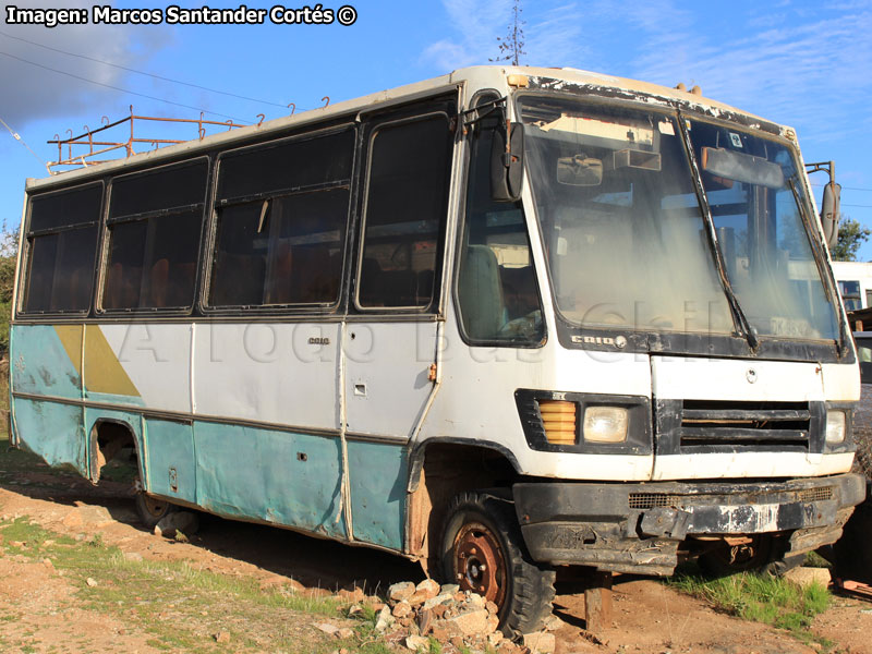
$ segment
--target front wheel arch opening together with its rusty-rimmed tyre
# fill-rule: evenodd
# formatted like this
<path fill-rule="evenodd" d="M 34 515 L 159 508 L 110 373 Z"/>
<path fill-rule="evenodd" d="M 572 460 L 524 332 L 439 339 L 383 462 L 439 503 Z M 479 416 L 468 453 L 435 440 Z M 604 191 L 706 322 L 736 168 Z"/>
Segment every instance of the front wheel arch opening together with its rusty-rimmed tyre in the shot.
<path fill-rule="evenodd" d="M 427 577 L 497 604 L 506 633 L 535 629 L 554 598 L 555 573 L 532 561 L 518 524 L 519 476 L 493 443 L 438 439 L 411 453 L 409 554 Z"/>

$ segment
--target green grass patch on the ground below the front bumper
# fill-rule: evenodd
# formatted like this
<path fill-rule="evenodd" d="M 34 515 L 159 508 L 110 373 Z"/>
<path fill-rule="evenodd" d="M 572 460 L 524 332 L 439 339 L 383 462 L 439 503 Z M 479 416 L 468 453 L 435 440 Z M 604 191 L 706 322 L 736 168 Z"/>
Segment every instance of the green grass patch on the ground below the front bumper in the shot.
<path fill-rule="evenodd" d="M 753 572 L 707 579 L 694 569 L 679 571 L 667 583 L 707 601 L 718 610 L 785 629 L 803 642 L 814 641 L 824 649 L 835 644 L 808 631 L 814 616 L 825 611 L 831 601 L 829 591 L 816 583 L 800 588 L 782 578 Z"/>

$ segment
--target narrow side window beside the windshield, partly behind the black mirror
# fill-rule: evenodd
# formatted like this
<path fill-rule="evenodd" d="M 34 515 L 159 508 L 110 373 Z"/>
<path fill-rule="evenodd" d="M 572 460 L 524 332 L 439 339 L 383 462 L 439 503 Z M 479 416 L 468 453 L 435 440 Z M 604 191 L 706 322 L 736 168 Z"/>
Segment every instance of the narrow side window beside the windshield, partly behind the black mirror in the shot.
<path fill-rule="evenodd" d="M 457 296 L 465 337 L 538 343 L 545 335 L 536 274 L 520 203 L 491 199 L 493 128 L 472 142 Z"/>

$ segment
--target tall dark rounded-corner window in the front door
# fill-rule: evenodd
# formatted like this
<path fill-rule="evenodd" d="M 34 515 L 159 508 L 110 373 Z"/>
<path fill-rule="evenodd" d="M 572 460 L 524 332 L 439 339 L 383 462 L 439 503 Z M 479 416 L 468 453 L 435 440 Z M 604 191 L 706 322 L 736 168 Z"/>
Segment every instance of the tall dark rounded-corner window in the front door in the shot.
<path fill-rule="evenodd" d="M 448 117 L 378 128 L 371 145 L 358 305 L 432 305 L 448 208 Z"/>

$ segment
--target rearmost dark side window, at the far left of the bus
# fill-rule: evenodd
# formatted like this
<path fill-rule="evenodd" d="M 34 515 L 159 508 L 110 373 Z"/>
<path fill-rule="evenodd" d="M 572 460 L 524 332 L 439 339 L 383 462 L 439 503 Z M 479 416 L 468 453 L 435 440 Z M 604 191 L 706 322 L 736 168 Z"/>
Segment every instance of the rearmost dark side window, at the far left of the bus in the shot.
<path fill-rule="evenodd" d="M 23 312 L 87 311 L 101 204 L 102 184 L 32 199 Z"/>

